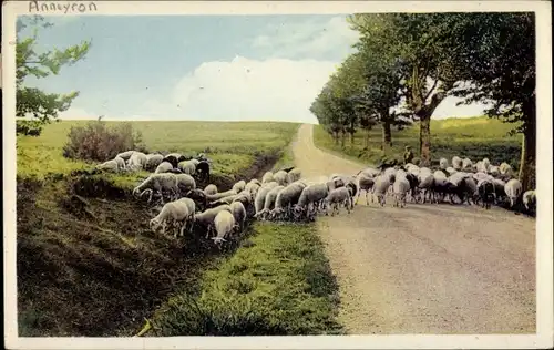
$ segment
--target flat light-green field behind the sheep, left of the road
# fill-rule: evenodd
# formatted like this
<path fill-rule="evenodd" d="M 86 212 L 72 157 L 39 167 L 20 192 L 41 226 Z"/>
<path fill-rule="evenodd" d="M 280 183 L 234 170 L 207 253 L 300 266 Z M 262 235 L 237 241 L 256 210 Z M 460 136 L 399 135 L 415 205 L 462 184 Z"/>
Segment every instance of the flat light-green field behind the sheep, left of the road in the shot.
<path fill-rule="evenodd" d="M 86 121 L 62 121 L 44 127 L 39 137 L 18 136 L 18 175 L 48 177 L 90 168 L 92 164 L 64 158 L 62 150 L 73 125 Z M 117 122 L 107 122 L 114 124 Z M 214 174 L 233 175 L 248 168 L 255 157 L 280 152 L 298 124 L 278 122 L 132 122 L 142 132 L 151 152 L 205 152 L 214 161 Z M 126 151 L 126 150 L 122 150 Z M 140 174 L 141 176 L 144 174 Z M 123 176 L 132 181 L 136 176 Z M 123 179 L 125 182 L 125 179 Z"/>

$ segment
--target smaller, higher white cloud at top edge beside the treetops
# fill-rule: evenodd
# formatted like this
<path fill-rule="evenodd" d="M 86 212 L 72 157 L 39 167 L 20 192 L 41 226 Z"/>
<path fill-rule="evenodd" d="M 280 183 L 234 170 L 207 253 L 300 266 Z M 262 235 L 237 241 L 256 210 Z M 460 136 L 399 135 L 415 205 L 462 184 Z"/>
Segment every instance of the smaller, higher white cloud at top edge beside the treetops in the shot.
<path fill-rule="evenodd" d="M 345 17 L 268 25 L 266 33 L 252 41 L 254 49 L 269 53 L 273 58 L 346 58 L 353 51 L 359 34 L 349 28 Z"/>

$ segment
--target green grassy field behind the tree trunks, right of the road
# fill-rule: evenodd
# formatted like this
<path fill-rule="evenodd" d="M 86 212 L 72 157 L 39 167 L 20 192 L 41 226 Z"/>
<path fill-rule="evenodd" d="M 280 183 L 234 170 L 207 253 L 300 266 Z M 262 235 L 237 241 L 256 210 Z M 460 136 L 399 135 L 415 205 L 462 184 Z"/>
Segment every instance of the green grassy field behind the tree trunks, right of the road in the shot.
<path fill-rule="evenodd" d="M 441 157 L 451 162 L 454 155 L 469 157 L 473 162 L 488 157 L 493 164 L 506 162 L 519 168 L 521 153 L 521 135 L 509 136 L 514 124 L 499 120 L 482 117 L 448 119 L 431 121 L 432 165 L 438 165 Z M 314 142 L 324 150 L 346 155 L 368 164 L 376 165 L 383 155 L 381 146 L 381 128 L 370 131 L 369 148 L 365 150 L 365 131 L 358 131 L 353 145 L 347 140 L 345 147 L 335 144 L 332 137 L 320 126 L 315 126 Z M 402 131 L 392 130 L 392 147 L 388 157 L 402 159 L 404 146 L 410 145 L 419 157 L 419 124 Z"/>

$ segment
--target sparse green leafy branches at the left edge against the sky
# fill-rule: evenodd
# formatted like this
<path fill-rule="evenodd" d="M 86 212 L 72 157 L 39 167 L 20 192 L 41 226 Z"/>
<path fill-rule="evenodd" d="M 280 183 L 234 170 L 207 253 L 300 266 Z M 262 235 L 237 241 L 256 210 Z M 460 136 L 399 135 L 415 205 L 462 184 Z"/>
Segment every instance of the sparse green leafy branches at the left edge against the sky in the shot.
<path fill-rule="evenodd" d="M 25 117 L 17 123 L 18 135 L 40 135 L 43 125 L 58 120 L 58 113 L 66 111 L 79 95 L 76 91 L 68 94 L 47 93 L 24 84 L 29 75 L 41 79 L 59 74 L 62 66 L 76 63 L 89 52 L 91 42 L 84 41 L 63 50 L 54 49 L 38 53 L 35 49 L 39 27 L 47 29 L 52 25 L 39 16 L 27 20 L 20 18 L 17 22 L 16 116 Z M 32 28 L 32 34 L 29 38 L 20 38 L 21 31 L 28 27 Z M 31 117 L 27 119 L 29 116 Z"/>

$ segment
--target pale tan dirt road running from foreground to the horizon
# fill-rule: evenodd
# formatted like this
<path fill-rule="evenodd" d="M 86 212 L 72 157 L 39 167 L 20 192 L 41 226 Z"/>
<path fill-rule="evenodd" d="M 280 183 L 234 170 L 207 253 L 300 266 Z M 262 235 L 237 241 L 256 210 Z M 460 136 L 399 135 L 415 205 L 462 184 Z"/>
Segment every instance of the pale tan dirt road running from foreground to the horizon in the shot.
<path fill-rule="evenodd" d="M 356 174 L 356 164 L 314 146 L 302 125 L 293 144 L 302 176 Z M 534 333 L 535 222 L 504 209 L 360 198 L 320 217 L 349 333 Z"/>

